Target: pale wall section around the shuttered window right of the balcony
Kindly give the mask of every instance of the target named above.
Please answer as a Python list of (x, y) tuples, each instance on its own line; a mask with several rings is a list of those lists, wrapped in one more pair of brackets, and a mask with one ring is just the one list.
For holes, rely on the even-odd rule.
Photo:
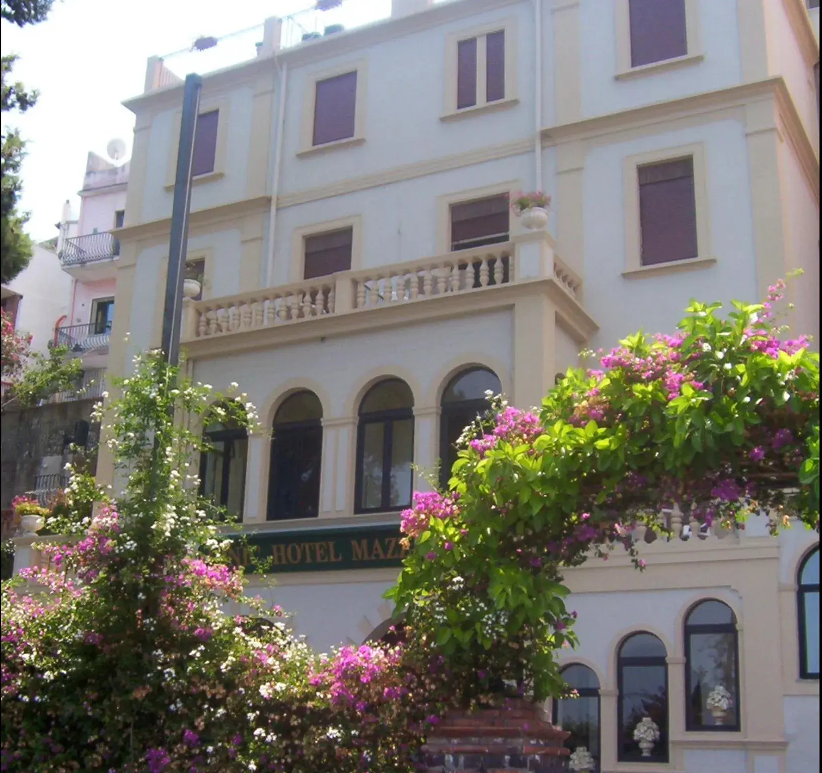
[[(710, 211), (708, 268), (625, 278), (623, 159), (703, 143)], [(720, 121), (592, 150), (584, 172), (584, 292), (600, 330), (591, 347), (611, 347), (642, 328), (672, 332), (691, 298), (757, 301), (745, 127)], [(701, 256), (700, 256), (701, 257)]]

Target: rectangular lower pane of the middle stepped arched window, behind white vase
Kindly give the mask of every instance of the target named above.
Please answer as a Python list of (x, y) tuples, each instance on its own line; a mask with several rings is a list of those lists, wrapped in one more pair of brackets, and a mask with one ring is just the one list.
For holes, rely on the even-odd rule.
[[(655, 638), (655, 637), (652, 637)], [(658, 641), (658, 640), (657, 640)], [(659, 728), (659, 740), (654, 743), (652, 759), (667, 757), (667, 690), (665, 665), (623, 665), (621, 688), (621, 757), (642, 757), (634, 730), (649, 716)], [(645, 757), (647, 759), (647, 757)]]

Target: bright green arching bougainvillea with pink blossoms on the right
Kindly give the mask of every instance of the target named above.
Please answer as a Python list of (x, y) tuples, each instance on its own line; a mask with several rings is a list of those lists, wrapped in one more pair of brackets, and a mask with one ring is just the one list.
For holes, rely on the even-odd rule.
[(774, 321), (783, 288), (724, 316), (693, 301), (676, 334), (626, 338), (539, 410), (497, 400), (464, 434), (450, 490), (415, 495), (389, 596), (463, 702), (561, 694), (563, 570), (615, 545), (642, 568), (633, 532), (670, 536), (665, 508), (713, 530), (756, 512), (774, 532), (791, 517), (819, 530), (819, 356)]

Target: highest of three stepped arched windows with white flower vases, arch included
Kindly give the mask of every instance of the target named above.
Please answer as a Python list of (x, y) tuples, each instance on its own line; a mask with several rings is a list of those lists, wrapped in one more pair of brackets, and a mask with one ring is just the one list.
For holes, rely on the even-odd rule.
[(738, 730), (737, 617), (722, 601), (700, 601), (685, 619), (686, 729)]

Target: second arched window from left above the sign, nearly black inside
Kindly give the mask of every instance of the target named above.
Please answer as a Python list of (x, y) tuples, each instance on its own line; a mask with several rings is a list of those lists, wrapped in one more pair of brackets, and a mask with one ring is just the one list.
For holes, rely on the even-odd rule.
[(295, 392), (274, 417), (268, 476), (269, 521), (320, 514), (322, 405), (307, 389)]

